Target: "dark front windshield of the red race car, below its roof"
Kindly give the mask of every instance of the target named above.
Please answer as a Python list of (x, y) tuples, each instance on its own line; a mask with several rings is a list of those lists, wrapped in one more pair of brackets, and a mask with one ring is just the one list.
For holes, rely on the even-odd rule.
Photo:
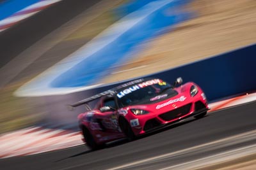
[(157, 103), (166, 97), (176, 96), (177, 92), (166, 82), (140, 87), (134, 85), (117, 94), (118, 105), (122, 108), (136, 104)]

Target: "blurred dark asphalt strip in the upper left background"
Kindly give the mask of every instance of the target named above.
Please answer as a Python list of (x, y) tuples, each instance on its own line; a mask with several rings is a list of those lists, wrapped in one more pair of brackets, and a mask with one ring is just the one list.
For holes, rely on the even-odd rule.
[[(45, 35), (86, 11), (100, 0), (65, 0), (0, 32), (0, 68)], [(74, 10), (75, 9), (75, 10)]]

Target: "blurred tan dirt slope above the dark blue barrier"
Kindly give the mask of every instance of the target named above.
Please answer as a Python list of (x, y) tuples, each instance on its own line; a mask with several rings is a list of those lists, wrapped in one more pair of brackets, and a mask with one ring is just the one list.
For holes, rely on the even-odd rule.
[(198, 17), (140, 46), (140, 53), (104, 83), (163, 71), (256, 42), (255, 0), (195, 0)]

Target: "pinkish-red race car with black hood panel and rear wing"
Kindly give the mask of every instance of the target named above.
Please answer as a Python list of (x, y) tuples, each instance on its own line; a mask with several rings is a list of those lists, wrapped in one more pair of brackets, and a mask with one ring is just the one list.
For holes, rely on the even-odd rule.
[[(88, 103), (97, 101), (92, 110)], [(92, 150), (120, 138), (133, 140), (187, 117), (202, 118), (209, 110), (204, 92), (182, 78), (170, 85), (159, 78), (140, 78), (89, 97), (78, 115), (84, 142)]]

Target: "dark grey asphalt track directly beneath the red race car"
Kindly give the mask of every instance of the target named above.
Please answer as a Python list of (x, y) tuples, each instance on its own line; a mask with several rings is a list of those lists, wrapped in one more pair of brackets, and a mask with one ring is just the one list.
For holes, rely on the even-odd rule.
[[(127, 142), (119, 141), (102, 150), (91, 152), (86, 146), (76, 146), (55, 152), (0, 160), (1, 169), (111, 169), (138, 160), (173, 153), (189, 147), (227, 138), (256, 127), (256, 102), (215, 111), (199, 120), (187, 120), (163, 131)], [(213, 153), (255, 144), (255, 140), (222, 148), (198, 149), (177, 157), (141, 162), (124, 169), (159, 169)], [(118, 168), (119, 169), (119, 168)]]

